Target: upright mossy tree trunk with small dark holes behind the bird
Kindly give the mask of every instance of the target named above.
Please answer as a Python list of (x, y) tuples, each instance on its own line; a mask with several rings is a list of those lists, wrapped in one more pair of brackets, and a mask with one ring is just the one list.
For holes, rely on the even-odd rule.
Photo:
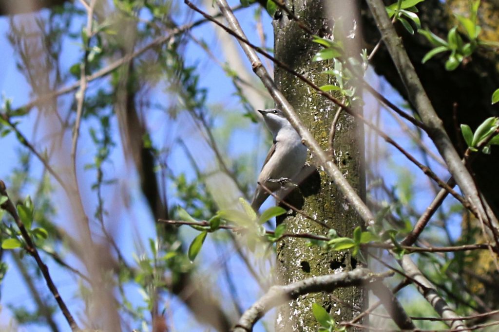
[[(286, 6), (307, 22), (315, 34), (324, 35), (331, 30), (324, 3), (325, 1), (318, 0), (293, 0), (286, 1)], [(274, 20), (273, 25), (275, 57), (318, 85), (330, 84), (328, 76), (321, 74), (326, 70), (327, 63), (311, 61), (320, 49), (318, 44), (311, 42), (311, 36), (300, 29), (295, 21), (290, 20), (285, 12)], [(338, 110), (337, 106), (283, 69), (277, 67), (274, 77), (278, 87), (314, 134), (315, 139), (327, 149), (329, 130)], [(345, 112), (341, 114), (336, 125), (334, 146), (335, 162), (361, 197), (365, 197), (362, 126)], [(313, 160), (309, 162), (313, 164)], [(293, 192), (285, 200), (316, 220), (326, 222), (341, 236), (351, 237), (353, 229), (363, 224), (323, 171), (319, 170), (310, 176), (300, 185), (300, 191), (301, 195)], [(328, 233), (327, 228), (299, 214), (288, 214), (285, 218), (278, 218), (277, 222), (283, 222), (286, 231), (290, 233)], [(276, 269), (282, 284), (351, 270), (357, 264), (357, 259), (352, 257), (349, 251), (335, 252), (318, 246), (308, 246), (305, 239), (285, 238), (277, 243)], [(316, 331), (317, 322), (311, 311), (313, 303), (322, 305), (336, 321), (350, 320), (356, 314), (352, 305), (357, 309), (363, 308), (366, 297), (367, 292), (362, 288), (344, 288), (332, 294), (316, 293), (300, 297), (279, 308), (276, 331)]]

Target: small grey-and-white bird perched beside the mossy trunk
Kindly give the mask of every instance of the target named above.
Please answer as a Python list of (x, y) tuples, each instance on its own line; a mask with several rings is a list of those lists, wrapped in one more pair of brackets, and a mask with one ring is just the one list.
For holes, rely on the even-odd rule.
[(272, 133), (273, 144), (263, 162), (258, 175), (258, 185), (251, 201), (251, 207), (255, 212), (258, 212), (270, 195), (261, 185), (275, 192), (282, 187), (283, 181), (296, 180), (305, 165), (308, 151), (301, 142), (300, 135), (282, 111), (278, 109), (257, 111), (263, 116), (266, 126)]

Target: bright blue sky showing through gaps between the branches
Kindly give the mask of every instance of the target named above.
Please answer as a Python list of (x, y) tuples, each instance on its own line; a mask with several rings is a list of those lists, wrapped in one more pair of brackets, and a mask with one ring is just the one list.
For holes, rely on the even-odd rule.
[[(75, 5), (80, 6), (77, 1)], [(241, 10), (238, 13), (238, 15), (239, 17), (241, 17), (243, 26), (245, 26), (246, 30), (249, 31), (250, 38), (252, 38), (253, 40), (257, 40), (254, 39), (255, 29), (254, 29), (254, 23), (252, 22), (253, 12), (254, 8), (247, 8)], [(37, 15), (46, 16), (47, 10), (42, 10)], [(20, 18), (22, 19), (23, 17), (29, 19), (29, 14), (21, 15)], [(198, 19), (198, 18), (199, 15), (196, 14), (193, 17), (193, 19)], [(267, 36), (271, 38), (272, 36), (271, 25), (268, 15), (264, 14), (263, 20)], [(187, 21), (182, 21), (182, 19), (180, 18), (178, 19), (179, 24), (183, 24), (186, 22)], [(77, 28), (79, 23), (81, 22), (73, 22), (72, 25), (75, 28)], [(5, 34), (8, 31), (8, 29), (9, 29), (8, 19), (6, 17), (0, 18), (0, 45), (2, 45), (2, 52), (0, 55), (1, 56), (0, 92), (2, 96), (4, 96), (5, 98), (9, 98), (12, 100), (12, 106), (15, 108), (30, 101), (30, 96), (28, 94), (28, 91), (31, 91), (31, 89), (29, 85), (26, 83), (25, 79), (22, 77), (22, 75), (19, 74), (16, 68), (15, 58), (13, 56), (13, 50), (11, 49), (10, 44), (6, 40)], [(192, 33), (197, 38), (205, 40), (212, 48), (214, 54), (216, 56), (220, 56), (220, 59), (223, 61), (223, 57), (220, 52), (219, 43), (217, 42), (216, 36), (213, 32), (213, 27), (210, 23), (206, 23), (201, 25), (200, 27), (194, 28), (192, 30)], [(271, 45), (271, 40), (269, 41), (268, 45)], [(80, 49), (77, 47), (77, 45), (74, 44), (74, 42), (70, 41), (64, 44), (61, 54), (61, 59), (63, 59), (62, 60), (63, 70), (67, 70), (73, 63), (78, 61), (78, 58), (81, 57), (81, 54), (79, 52)], [(214, 106), (223, 105), (223, 107), (226, 110), (239, 111), (238, 99), (232, 95), (234, 93), (234, 87), (232, 86), (231, 81), (226, 78), (224, 71), (218, 65), (214, 65), (214, 63), (211, 60), (207, 60), (203, 56), (204, 51), (202, 51), (201, 48), (197, 45), (191, 43), (187, 48), (185, 54), (186, 54), (186, 61), (189, 64), (196, 65), (197, 71), (199, 73), (202, 73), (200, 86), (208, 88), (208, 103)], [(101, 83), (92, 82), (90, 84), (88, 92), (89, 94), (92, 92), (92, 90), (97, 84)], [(167, 99), (169, 98), (169, 96), (164, 94), (163, 86), (161, 84), (158, 85), (151, 92), (150, 95), (151, 95), (151, 102), (153, 103), (157, 102), (165, 105), (168, 102)], [(70, 100), (71, 98), (73, 98), (73, 94), (68, 94), (67, 96), (63, 97), (63, 99), (66, 101)], [(36, 112), (33, 111), (30, 113), (28, 117), (23, 118), (22, 122), (19, 124), (19, 129), (23, 133), (25, 133), (28, 138), (34, 137), (36, 138), (35, 141), (38, 142), (37, 140), (40, 139), (39, 137), (40, 135), (36, 136), (32, 135), (36, 116), (37, 116)], [(185, 130), (186, 128), (189, 129), (188, 127), (189, 125), (192, 127), (192, 123), (189, 124), (189, 121), (187, 119), (180, 118), (176, 121), (176, 123), (172, 124), (171, 122), (165, 121), (165, 115), (162, 111), (151, 111), (148, 113), (148, 116), (150, 116), (150, 118), (148, 119), (150, 131), (153, 135), (153, 140), (155, 141), (157, 146), (159, 148), (162, 147), (173, 148), (172, 153), (169, 156), (169, 162), (171, 163), (172, 169), (177, 172), (180, 171), (185, 172), (187, 177), (192, 179), (195, 176), (195, 174), (192, 169), (190, 169), (189, 167), (185, 167), (185, 165), (188, 164), (188, 160), (186, 159), (184, 152), (181, 149), (176, 148), (174, 144), (175, 136), (182, 134), (182, 130)], [(235, 135), (240, 137), (247, 137), (248, 135), (247, 130), (249, 127), (250, 130), (253, 132), (254, 142), (256, 143), (260, 141), (261, 143), (261, 140), (258, 139), (256, 135), (254, 135), (255, 133), (260, 132), (259, 127), (257, 125), (251, 124), (247, 118), (243, 118), (243, 121), (246, 121), (248, 123), (243, 125), (242, 128), (243, 130), (238, 130), (238, 132), (235, 133)], [(90, 184), (92, 183), (95, 175), (92, 171), (82, 170), (82, 165), (91, 160), (94, 153), (92, 149), (91, 140), (88, 136), (88, 128), (91, 125), (92, 125), (91, 122), (90, 124), (83, 123), (80, 136), (81, 140), (79, 143), (79, 156), (78, 156), (78, 162), (80, 164), (79, 183), (83, 194), (82, 196), (84, 198), (94, 197), (94, 193), (91, 192), (90, 190)], [(127, 210), (122, 211), (121, 214), (114, 215), (112, 218), (113, 220), (110, 220), (109, 223), (110, 223), (110, 229), (112, 229), (114, 236), (116, 236), (123, 254), (127, 257), (127, 260), (130, 264), (134, 264), (134, 261), (132, 259), (132, 253), (133, 252), (137, 253), (138, 250), (135, 244), (142, 242), (145, 248), (147, 248), (148, 247), (147, 239), (151, 236), (154, 236), (154, 227), (153, 223), (151, 222), (152, 221), (151, 215), (146, 207), (144, 199), (137, 194), (138, 193), (137, 176), (135, 172), (130, 172), (130, 166), (125, 166), (119, 143), (120, 137), (117, 135), (118, 133), (117, 123), (114, 121), (112, 123), (112, 126), (115, 129), (114, 132), (116, 136), (114, 137), (114, 140), (117, 141), (118, 147), (115, 148), (112, 152), (111, 159), (113, 160), (113, 165), (108, 167), (108, 171), (112, 173), (116, 178), (118, 178), (119, 181), (126, 182), (127, 186), (131, 186), (133, 190), (131, 190), (130, 192), (135, 193), (134, 194), (135, 197), (132, 197), (130, 200), (130, 202), (132, 202), (132, 206), (130, 206)], [(174, 131), (173, 134), (172, 130)], [(69, 136), (67, 135), (66, 137), (69, 138)], [(16, 144), (15, 136), (12, 134), (9, 134), (6, 137), (2, 138), (1, 143), (4, 149), (2, 150), (2, 158), (0, 163), (0, 179), (7, 180), (10, 175), (12, 167), (14, 167), (15, 163), (17, 162), (16, 150), (19, 147), (18, 144)], [(201, 142), (197, 141), (196, 139), (193, 139), (192, 142), (189, 142), (188, 140), (188, 143), (193, 145), (201, 144)], [(43, 144), (40, 143), (39, 145)], [(242, 148), (241, 145), (237, 144), (236, 145), (232, 144), (230, 146), (230, 150), (234, 155), (248, 152), (251, 148), (252, 148), (251, 146), (247, 146), (245, 149)], [(262, 153), (261, 158), (263, 158), (264, 155), (265, 154)], [(34, 160), (32, 169), (33, 169), (33, 174), (40, 174), (42, 168), (40, 163)], [(174, 190), (174, 187), (171, 184), (168, 186), (168, 188), (169, 190)], [(32, 190), (32, 188), (28, 187), (25, 193), (21, 193), (21, 196), (29, 194), (30, 190)], [(107, 195), (111, 196), (112, 194), (115, 194), (115, 189), (113, 188), (104, 189), (104, 196)], [(57, 202), (59, 203), (64, 202), (63, 193), (61, 193), (60, 191), (56, 191), (55, 195), (57, 197), (56, 199)], [(173, 203), (175, 203), (174, 196), (172, 201)], [(87, 214), (89, 216), (92, 216), (95, 209), (95, 202), (92, 202), (91, 200), (90, 201), (86, 200), (86, 203), (88, 203), (86, 204)], [(75, 229), (71, 228), (71, 223), (64, 222), (64, 219), (71, 218), (70, 211), (66, 211), (66, 209), (64, 209), (64, 204), (60, 204), (60, 206), (58, 206), (57, 208), (58, 208), (58, 213), (55, 222), (61, 225), (70, 234), (71, 233), (75, 234), (74, 233)], [(189, 241), (190, 238), (194, 237), (197, 234), (196, 231), (190, 228), (182, 228), (181, 232), (185, 234), (186, 241)], [(146, 249), (146, 252), (147, 251), (149, 250)], [(237, 258), (234, 257), (234, 252), (233, 252), (234, 249), (231, 249), (229, 247), (226, 248), (225, 251), (228, 252), (227, 254), (227, 257), (229, 258), (228, 264), (230, 264), (230, 266), (234, 268), (234, 271), (239, 271), (235, 272), (235, 274), (237, 274), (235, 275), (235, 278), (237, 279), (245, 278), (246, 277), (245, 268), (242, 266), (242, 263)], [(203, 252), (207, 253), (216, 252), (213, 242), (208, 240), (203, 248)], [(61, 252), (61, 254), (64, 253)], [(210, 256), (210, 254), (208, 254), (207, 256)], [(8, 325), (11, 319), (11, 314), (7, 309), (9, 303), (25, 305), (28, 309), (33, 309), (33, 306), (31, 305), (32, 300), (31, 297), (29, 296), (29, 290), (25, 287), (24, 283), (21, 281), (22, 278), (18, 274), (18, 271), (14, 268), (11, 258), (9, 257), (8, 254), (4, 255), (4, 257), (7, 263), (9, 264), (10, 269), (1, 287), (1, 303), (4, 309), (1, 311), (0, 324)], [(70, 256), (67, 258), (69, 263), (75, 264), (75, 266), (80, 269), (82, 268), (82, 266), (78, 266), (79, 264), (74, 258), (71, 258)], [(29, 259), (30, 257), (24, 258), (24, 260), (29, 260)], [(73, 311), (73, 314), (76, 314), (78, 311), (81, 311), (83, 309), (82, 304), (80, 300), (78, 300), (75, 297), (77, 294), (77, 282), (78, 282), (77, 278), (66, 273), (64, 269), (59, 268), (56, 264), (51, 263), (50, 259), (45, 257), (45, 260), (48, 263), (51, 274), (54, 276), (55, 284), (59, 287), (63, 299), (65, 299), (66, 303)], [(209, 265), (210, 264), (208, 264), (208, 266)], [(203, 273), (208, 272), (206, 271), (206, 268), (203, 267), (200, 268), (200, 271), (202, 271)], [(221, 276), (220, 277), (217, 276), (218, 272), (216, 274), (213, 273), (210, 274), (212, 275), (213, 278), (216, 279), (220, 278), (221, 281), (218, 283), (220, 284), (221, 289), (227, 290), (227, 286), (224, 284), (225, 279), (223, 279)], [(254, 285), (253, 286), (251, 285), (250, 282), (247, 282), (246, 284), (247, 284), (246, 287), (239, 290), (239, 292), (240, 292), (240, 298), (248, 299), (243, 303), (243, 305), (248, 306), (250, 305), (249, 303), (250, 299), (254, 298), (254, 294), (257, 293), (257, 290), (254, 288)], [(42, 294), (47, 294), (44, 284), (37, 286)], [(136, 287), (128, 286), (126, 289), (127, 289), (127, 295), (129, 296), (129, 300), (131, 300), (136, 304), (142, 301), (142, 298), (138, 293)], [(226, 294), (226, 296), (228, 296), (228, 294)], [(188, 317), (188, 312), (181, 302), (179, 302), (175, 298), (167, 300), (169, 302), (171, 301), (170, 310), (174, 319), (174, 322), (172, 323), (177, 331), (187, 331), (187, 330), (204, 331), (204, 327), (197, 325), (196, 322), (193, 320), (186, 319)], [(67, 327), (66, 322), (63, 319), (62, 315), (59, 314), (59, 311), (57, 310), (56, 312), (57, 314), (55, 316), (55, 319), (59, 324), (61, 331), (65, 331)], [(29, 329), (29, 331), (48, 331), (47, 329), (44, 329), (38, 325), (31, 325), (26, 327), (26, 329)]]

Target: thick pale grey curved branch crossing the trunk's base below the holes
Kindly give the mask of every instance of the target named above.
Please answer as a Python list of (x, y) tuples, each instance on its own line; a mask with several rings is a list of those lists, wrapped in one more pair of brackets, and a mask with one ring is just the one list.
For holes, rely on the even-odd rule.
[(289, 285), (272, 286), (265, 295), (253, 303), (250, 309), (241, 316), (233, 331), (251, 331), (254, 324), (267, 311), (289, 300), (294, 300), (300, 295), (332, 292), (340, 287), (361, 286), (365, 283), (382, 280), (388, 276), (391, 276), (391, 273), (375, 274), (365, 268), (356, 268), (348, 272), (308, 278)]

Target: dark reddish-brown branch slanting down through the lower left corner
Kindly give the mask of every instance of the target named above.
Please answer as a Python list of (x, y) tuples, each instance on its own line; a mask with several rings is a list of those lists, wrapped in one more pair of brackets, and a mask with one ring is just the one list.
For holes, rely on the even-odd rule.
[(62, 315), (64, 315), (64, 318), (66, 319), (67, 323), (71, 327), (72, 331), (78, 331), (80, 328), (76, 324), (73, 316), (69, 312), (69, 309), (67, 308), (66, 304), (62, 300), (62, 297), (59, 294), (59, 291), (57, 290), (57, 287), (55, 286), (54, 282), (52, 281), (52, 277), (50, 276), (50, 273), (48, 272), (47, 266), (43, 263), (43, 261), (40, 258), (40, 255), (38, 254), (38, 250), (36, 249), (36, 246), (31, 239), (31, 236), (29, 235), (28, 231), (24, 227), (24, 224), (22, 221), (19, 219), (19, 216), (17, 215), (17, 211), (15, 210), (14, 205), (10, 201), (7, 195), (5, 183), (0, 180), (0, 197), (6, 197), (7, 201), (4, 202), (0, 208), (7, 211), (10, 216), (14, 219), (15, 223), (17, 224), (17, 227), (19, 227), (19, 230), (21, 232), (21, 236), (26, 242), (25, 249), (26, 251), (34, 258), (36, 261), (36, 264), (38, 265), (38, 268), (41, 271), (41, 274), (43, 275), (43, 278), (45, 279), (45, 282), (47, 283), (48, 289), (54, 296), (55, 301), (57, 301), (57, 304), (59, 305), (60, 310), (62, 311)]

